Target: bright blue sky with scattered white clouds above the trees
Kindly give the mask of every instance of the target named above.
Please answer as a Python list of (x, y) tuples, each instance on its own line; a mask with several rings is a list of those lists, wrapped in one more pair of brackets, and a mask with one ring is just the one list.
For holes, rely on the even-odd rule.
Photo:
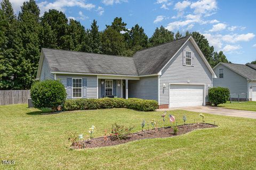
[[(16, 13), (23, 0), (10, 0)], [(100, 30), (113, 19), (122, 17), (127, 28), (143, 27), (150, 37), (156, 27), (185, 33), (202, 33), (214, 46), (223, 50), (229, 61), (245, 64), (256, 60), (256, 1), (172, 1), (172, 0), (37, 0), (41, 15), (50, 8), (79, 20), (90, 28), (93, 19)]]

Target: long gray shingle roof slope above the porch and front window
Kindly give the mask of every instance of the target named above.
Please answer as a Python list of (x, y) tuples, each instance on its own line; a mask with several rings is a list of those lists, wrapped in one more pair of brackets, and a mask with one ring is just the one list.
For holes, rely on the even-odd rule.
[(137, 75), (132, 57), (43, 48), (53, 72)]

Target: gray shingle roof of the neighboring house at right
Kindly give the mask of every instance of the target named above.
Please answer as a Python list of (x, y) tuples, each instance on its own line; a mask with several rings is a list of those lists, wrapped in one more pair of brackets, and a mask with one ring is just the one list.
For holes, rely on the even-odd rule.
[(256, 70), (244, 64), (221, 63), (250, 80), (256, 80)]

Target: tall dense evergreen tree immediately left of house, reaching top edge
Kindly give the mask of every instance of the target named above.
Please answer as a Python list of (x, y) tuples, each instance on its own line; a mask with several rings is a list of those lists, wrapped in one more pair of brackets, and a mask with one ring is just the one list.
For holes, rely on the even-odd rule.
[(29, 89), (36, 78), (40, 56), (39, 49), (39, 8), (34, 0), (24, 2), (19, 13), (21, 43), (23, 50), (20, 53), (17, 87)]

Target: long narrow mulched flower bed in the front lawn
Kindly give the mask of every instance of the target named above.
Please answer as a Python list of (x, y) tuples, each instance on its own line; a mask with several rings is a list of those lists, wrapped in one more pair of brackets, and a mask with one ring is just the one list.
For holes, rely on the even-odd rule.
[(178, 133), (173, 134), (173, 128), (165, 127), (165, 128), (158, 128), (158, 129), (149, 129), (145, 130), (144, 132), (137, 132), (129, 134), (129, 138), (125, 140), (113, 140), (111, 137), (108, 137), (107, 141), (104, 141), (104, 137), (94, 138), (92, 140), (84, 140), (78, 141), (71, 146), (73, 149), (83, 149), (83, 148), (99, 148), (99, 147), (107, 147), (107, 146), (114, 146), (120, 145), (122, 143), (127, 143), (134, 140), (142, 140), (142, 139), (154, 139), (154, 138), (167, 138), (167, 137), (174, 137), (177, 135), (181, 135), (184, 133), (188, 133), (190, 131), (196, 129), (204, 129), (204, 128), (215, 128), (216, 125), (207, 124), (207, 123), (196, 123), (196, 124), (186, 124), (186, 125), (179, 125)]

